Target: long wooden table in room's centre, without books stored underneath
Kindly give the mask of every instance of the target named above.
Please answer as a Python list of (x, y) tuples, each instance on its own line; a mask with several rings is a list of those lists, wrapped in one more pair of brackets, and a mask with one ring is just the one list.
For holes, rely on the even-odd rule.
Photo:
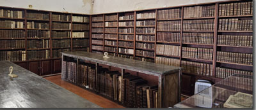
[[(62, 60), (65, 57), (72, 57), (77, 60), (86, 60), (95, 62), (96, 67), (99, 64), (109, 65), (111, 67), (118, 67), (122, 69), (122, 76), (125, 69), (129, 71), (141, 72), (158, 77), (158, 107), (170, 107), (177, 102), (180, 102), (180, 74), (181, 67), (174, 67), (170, 65), (155, 64), (152, 62), (143, 62), (140, 60), (132, 60), (129, 58), (120, 58), (109, 56), (104, 58), (99, 53), (90, 52), (63, 52)], [(96, 68), (97, 70), (97, 68)], [(63, 74), (63, 73), (62, 73)]]

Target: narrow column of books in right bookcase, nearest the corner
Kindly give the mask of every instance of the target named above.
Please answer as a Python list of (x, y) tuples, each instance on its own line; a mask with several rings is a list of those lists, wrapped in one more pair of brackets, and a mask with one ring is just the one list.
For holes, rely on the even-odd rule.
[(92, 52), (104, 52), (104, 15), (92, 15)]

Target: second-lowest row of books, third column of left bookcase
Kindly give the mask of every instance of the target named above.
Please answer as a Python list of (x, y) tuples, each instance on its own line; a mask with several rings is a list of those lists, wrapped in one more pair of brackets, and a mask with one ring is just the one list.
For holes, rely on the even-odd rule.
[(70, 39), (52, 39), (52, 48), (69, 48)]

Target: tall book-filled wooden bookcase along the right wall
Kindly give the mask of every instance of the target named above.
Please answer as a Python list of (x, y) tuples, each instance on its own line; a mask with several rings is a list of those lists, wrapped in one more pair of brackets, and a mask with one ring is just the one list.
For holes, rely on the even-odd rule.
[[(212, 81), (212, 83), (216, 83), (234, 73), (252, 74), (252, 10), (251, 1), (221, 1), (92, 15), (92, 18), (102, 17), (102, 20), (97, 22), (103, 24), (100, 27), (103, 29), (101, 32), (103, 36), (100, 39), (102, 40), (102, 45), (100, 46), (103, 46), (103, 48), (106, 47), (104, 43), (106, 41), (105, 29), (108, 28), (105, 26), (105, 23), (109, 22), (104, 17), (118, 15), (118, 20), (115, 20), (115, 22), (118, 22), (118, 33), (112, 33), (118, 35), (118, 49), (116, 52), (92, 48), (90, 52), (108, 52), (118, 57), (184, 67), (182, 93), (192, 95), (196, 79), (207, 79)], [(132, 13), (133, 18), (131, 19), (120, 18), (123, 15), (132, 15)], [(155, 16), (148, 17), (148, 13), (154, 13)], [(143, 17), (143, 14), (146, 14), (145, 17)], [(140, 17), (138, 18), (138, 16)], [(223, 24), (223, 21), (226, 22), (226, 19), (228, 19), (227, 23)], [(155, 21), (154, 25), (139, 24), (140, 22), (150, 20)], [(129, 24), (129, 21), (133, 21), (133, 25), (120, 26), (122, 22)], [(224, 25), (223, 27), (230, 27), (230, 29), (223, 27), (221, 29), (221, 25)], [(133, 33), (120, 32), (120, 29), (124, 28), (132, 28)], [(148, 28), (148, 30), (152, 28), (154, 32), (149, 34), (138, 32), (138, 29), (143, 28)], [(95, 34), (95, 32), (92, 32), (92, 34)], [(127, 39), (128, 37), (126, 37), (126, 39), (120, 39), (125, 34), (133, 35), (134, 38)], [(141, 41), (137, 39), (138, 36), (154, 36), (155, 39), (152, 41)], [(164, 37), (161, 38), (161, 36), (167, 36), (166, 38), (170, 39), (163, 39)], [(245, 39), (248, 40), (248, 43)], [(124, 43), (122, 41), (129, 41), (134, 44), (133, 46), (119, 46), (120, 43)], [(232, 42), (230, 43), (230, 41)], [(139, 48), (138, 43), (144, 43), (143, 45), (147, 46), (152, 44), (154, 46), (149, 46), (151, 48)], [(120, 52), (120, 48), (122, 50), (133, 50), (133, 52)], [(166, 50), (170, 52), (161, 52), (163, 48), (167, 48)], [(187, 52), (184, 52), (185, 50)], [(149, 54), (150, 52), (153, 53), (153, 56), (145, 54), (147, 52)], [(223, 56), (226, 56), (225, 58), (228, 60), (225, 60)], [(159, 58), (161, 61), (157, 60)]]

